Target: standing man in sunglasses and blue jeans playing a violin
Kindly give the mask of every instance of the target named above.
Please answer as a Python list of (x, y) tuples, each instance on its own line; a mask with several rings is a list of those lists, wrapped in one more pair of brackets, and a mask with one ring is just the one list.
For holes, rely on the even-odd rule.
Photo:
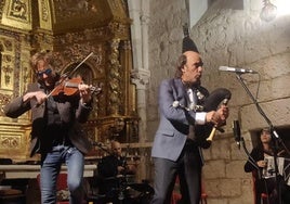
[(24, 95), (12, 100), (4, 113), (15, 118), (31, 110), (30, 156), (41, 155), (41, 203), (56, 203), (57, 175), (65, 163), (70, 203), (80, 204), (84, 154), (91, 148), (80, 123), (87, 122), (92, 110), (90, 86), (80, 84), (79, 94), (72, 97), (52, 97), (50, 92), (60, 80), (52, 53), (38, 52), (31, 56), (30, 63), (37, 82), (28, 85)]

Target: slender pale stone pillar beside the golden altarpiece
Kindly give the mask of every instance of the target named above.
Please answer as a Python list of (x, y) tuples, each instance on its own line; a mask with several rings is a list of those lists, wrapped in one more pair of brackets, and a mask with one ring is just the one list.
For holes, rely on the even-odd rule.
[[(147, 98), (146, 85), (150, 72), (148, 67), (148, 20), (149, 4), (146, 0), (129, 0), (129, 14), (133, 20), (131, 26), (133, 69), (131, 72), (132, 82), (136, 86), (139, 123), (139, 143), (147, 141)], [(148, 178), (145, 150), (141, 149), (141, 163), (136, 180)], [(145, 162), (144, 162), (145, 161)]]

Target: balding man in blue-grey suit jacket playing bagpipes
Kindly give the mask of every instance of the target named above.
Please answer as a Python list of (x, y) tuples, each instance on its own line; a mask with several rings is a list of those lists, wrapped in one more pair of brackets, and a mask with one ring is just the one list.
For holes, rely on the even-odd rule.
[(217, 111), (198, 111), (200, 95), (208, 95), (200, 86), (203, 63), (189, 37), (184, 38), (184, 43), (187, 47), (179, 59), (176, 77), (163, 80), (159, 89), (160, 124), (151, 150), (155, 165), (153, 204), (170, 203), (176, 176), (180, 178), (182, 203), (199, 204), (200, 146), (210, 146), (206, 141), (207, 125), (222, 126), (228, 116), (225, 105)]

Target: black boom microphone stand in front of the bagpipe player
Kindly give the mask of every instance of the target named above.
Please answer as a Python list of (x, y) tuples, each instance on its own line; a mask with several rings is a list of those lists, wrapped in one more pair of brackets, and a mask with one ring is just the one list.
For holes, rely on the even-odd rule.
[(275, 130), (272, 122), (269, 120), (269, 118), (266, 116), (266, 114), (264, 113), (264, 111), (262, 110), (262, 107), (260, 106), (260, 104), (258, 103), (258, 101), (254, 99), (253, 94), (251, 93), (251, 91), (248, 89), (248, 87), (246, 86), (243, 79), (241, 78), (241, 73), (236, 73), (236, 77), (239, 80), (239, 82), (241, 84), (242, 88), (246, 90), (246, 92), (248, 93), (248, 95), (251, 98), (251, 100), (253, 101), (254, 105), (256, 106), (258, 112), (264, 117), (264, 119), (266, 120), (266, 123), (269, 126), (271, 129), (271, 137), (272, 139), (275, 139), (274, 143), (274, 166), (275, 166), (275, 181), (276, 181), (276, 190), (277, 190), (277, 194), (278, 194), (278, 204), (281, 204), (281, 192), (280, 192), (280, 187), (279, 187), (279, 181), (278, 181), (278, 164), (277, 164), (277, 151), (278, 151), (278, 143), (282, 143), (285, 150), (287, 151), (287, 153), (289, 153), (289, 150), (286, 148), (286, 145), (284, 144), (282, 140), (280, 139), (280, 137), (278, 136), (277, 131)]

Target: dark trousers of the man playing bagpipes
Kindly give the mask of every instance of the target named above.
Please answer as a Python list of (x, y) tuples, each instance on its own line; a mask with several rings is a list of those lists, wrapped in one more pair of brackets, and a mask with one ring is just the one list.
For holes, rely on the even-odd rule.
[(181, 203), (199, 204), (201, 193), (201, 160), (198, 148), (185, 146), (176, 162), (154, 158), (155, 194), (151, 204), (170, 203), (175, 178), (180, 177)]

